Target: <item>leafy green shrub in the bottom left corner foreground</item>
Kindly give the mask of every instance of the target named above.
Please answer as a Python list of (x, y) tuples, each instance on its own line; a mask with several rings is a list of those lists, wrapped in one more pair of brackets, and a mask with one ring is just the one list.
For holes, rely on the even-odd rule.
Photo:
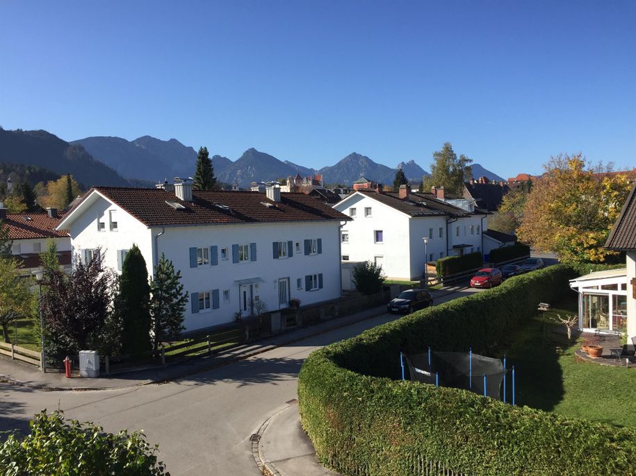
[(46, 410), (30, 423), (31, 434), (10, 435), (0, 445), (3, 475), (170, 475), (157, 461), (158, 447), (140, 432), (104, 433), (92, 423), (65, 421)]

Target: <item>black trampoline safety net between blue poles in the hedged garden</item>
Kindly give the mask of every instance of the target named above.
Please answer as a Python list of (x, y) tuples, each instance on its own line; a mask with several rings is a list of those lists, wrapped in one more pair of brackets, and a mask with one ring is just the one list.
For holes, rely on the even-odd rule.
[[(430, 352), (404, 355), (411, 380), (425, 384), (450, 386), (484, 395), (484, 374), (486, 375), (486, 395), (500, 398), (501, 382), (505, 373), (500, 359), (484, 357), (471, 352)], [(436, 375), (437, 373), (437, 375)]]

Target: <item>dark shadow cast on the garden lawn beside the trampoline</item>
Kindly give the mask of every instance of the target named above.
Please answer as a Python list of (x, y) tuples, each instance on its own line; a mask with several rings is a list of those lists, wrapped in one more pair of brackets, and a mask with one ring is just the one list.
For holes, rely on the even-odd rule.
[(576, 346), (576, 334), (568, 341), (565, 326), (556, 323), (556, 315), (565, 317), (572, 312), (569, 300), (559, 303), (544, 316), (528, 321), (502, 346), (507, 367), (514, 366), (517, 405), (553, 411), (563, 400), (565, 389), (559, 359), (566, 350)]

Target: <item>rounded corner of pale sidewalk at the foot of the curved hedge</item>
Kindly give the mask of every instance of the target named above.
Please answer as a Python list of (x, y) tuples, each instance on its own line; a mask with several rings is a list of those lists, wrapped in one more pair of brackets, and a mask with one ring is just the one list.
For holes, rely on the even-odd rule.
[[(252, 442), (256, 465), (263, 474), (275, 476), (339, 476), (325, 468), (316, 458), (316, 451), (300, 426), (296, 402), (272, 415)], [(258, 448), (254, 448), (254, 446)]]

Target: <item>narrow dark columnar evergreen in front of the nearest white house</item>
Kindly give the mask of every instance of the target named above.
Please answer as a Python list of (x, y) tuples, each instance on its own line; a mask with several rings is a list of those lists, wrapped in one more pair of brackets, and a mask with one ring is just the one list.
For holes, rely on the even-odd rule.
[(122, 353), (139, 355), (152, 348), (150, 341), (150, 284), (146, 261), (133, 244), (120, 276), (115, 309), (122, 321)]

